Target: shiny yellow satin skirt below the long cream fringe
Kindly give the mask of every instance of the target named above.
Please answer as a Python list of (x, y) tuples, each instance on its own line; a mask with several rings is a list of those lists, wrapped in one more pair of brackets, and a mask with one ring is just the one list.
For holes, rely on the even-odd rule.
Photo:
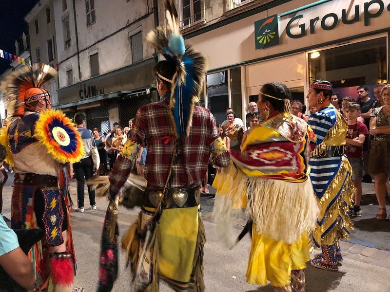
[(249, 256), (247, 282), (265, 286), (267, 280), (274, 287), (289, 285), (291, 271), (306, 268), (310, 260), (309, 240), (307, 233), (292, 244), (265, 237), (252, 231), (252, 248)]

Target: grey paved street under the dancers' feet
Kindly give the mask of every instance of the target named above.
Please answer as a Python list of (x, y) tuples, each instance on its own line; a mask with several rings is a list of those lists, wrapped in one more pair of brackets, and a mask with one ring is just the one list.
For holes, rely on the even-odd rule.
[[(4, 187), (3, 215), (10, 216), (11, 182), (13, 175)], [(307, 292), (390, 292), (390, 222), (379, 222), (374, 218), (378, 206), (372, 197), (373, 184), (365, 184), (363, 199), (363, 216), (354, 219), (355, 232), (350, 242), (342, 242), (341, 247), (345, 259), (338, 273), (322, 271), (309, 266), (306, 270)], [(75, 181), (71, 182), (72, 199), (76, 202)], [(102, 222), (107, 201), (97, 199), (98, 209), (88, 208), (86, 195), (86, 211), (72, 213), (72, 230), (75, 240), (78, 271), (75, 285), (82, 286), (86, 292), (96, 291), (98, 275), (99, 242)], [(213, 196), (208, 194), (202, 198), (203, 219), (205, 221), (207, 243), (205, 245), (205, 281), (206, 291), (210, 292), (271, 292), (271, 287), (259, 287), (245, 282), (250, 238), (243, 240), (233, 249), (226, 249), (217, 237), (215, 224), (212, 223)], [(137, 215), (138, 210), (127, 210), (123, 207), (119, 212), (120, 234)], [(245, 225), (244, 219), (236, 219), (237, 235)], [(129, 269), (124, 268), (124, 255), (119, 258), (119, 277), (113, 291), (133, 291), (130, 284)], [(171, 291), (164, 284), (160, 291)]]

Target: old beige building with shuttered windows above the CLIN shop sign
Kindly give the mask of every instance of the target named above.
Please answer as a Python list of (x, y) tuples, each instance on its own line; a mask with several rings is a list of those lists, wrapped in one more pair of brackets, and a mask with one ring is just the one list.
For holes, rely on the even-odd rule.
[(69, 116), (85, 111), (88, 127), (106, 132), (114, 122), (127, 126), (140, 106), (156, 100), (155, 51), (145, 38), (158, 23), (159, 9), (153, 0), (54, 1), (56, 108)]

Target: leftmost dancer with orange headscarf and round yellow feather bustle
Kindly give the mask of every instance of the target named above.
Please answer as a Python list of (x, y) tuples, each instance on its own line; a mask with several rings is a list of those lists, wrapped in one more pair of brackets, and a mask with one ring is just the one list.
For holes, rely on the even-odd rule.
[[(1, 84), (8, 119), (0, 144), (15, 170), (12, 228), (41, 228), (44, 238), (29, 252), (39, 288), (71, 291), (75, 254), (67, 208), (68, 163), (83, 155), (77, 129), (60, 110), (51, 110), (43, 84), (57, 75), (48, 65), (24, 66)], [(39, 290), (39, 291), (41, 291)]]

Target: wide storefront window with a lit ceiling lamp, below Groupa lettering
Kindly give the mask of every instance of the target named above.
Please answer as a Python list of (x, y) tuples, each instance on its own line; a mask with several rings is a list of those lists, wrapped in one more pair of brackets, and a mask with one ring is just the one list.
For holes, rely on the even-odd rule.
[(387, 39), (371, 39), (309, 54), (309, 81), (328, 80), (341, 97), (357, 98), (366, 85), (372, 95), (376, 83), (387, 83)]

